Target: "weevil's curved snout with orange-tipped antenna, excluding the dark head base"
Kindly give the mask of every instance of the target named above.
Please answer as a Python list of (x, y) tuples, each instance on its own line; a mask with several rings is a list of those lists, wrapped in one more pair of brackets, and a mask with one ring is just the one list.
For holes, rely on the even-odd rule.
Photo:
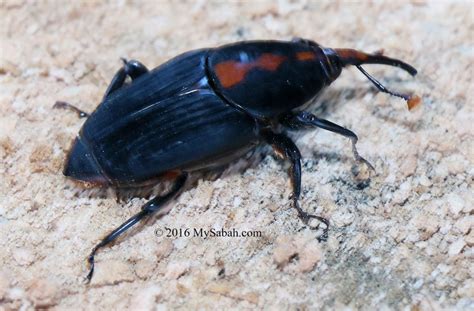
[(390, 91), (382, 83), (377, 81), (377, 79), (375, 79), (367, 71), (365, 71), (361, 65), (362, 64), (382, 64), (382, 65), (395, 66), (407, 71), (409, 74), (414, 76), (416, 75), (417, 71), (413, 66), (407, 63), (404, 63), (401, 60), (383, 56), (381, 52), (378, 52), (375, 54), (367, 54), (367, 53), (353, 50), (353, 49), (334, 49), (334, 51), (339, 56), (339, 60), (341, 61), (343, 66), (355, 65), (357, 69), (359, 69), (360, 72), (362, 72), (367, 77), (367, 79), (369, 79), (370, 82), (372, 82), (375, 85), (375, 87), (379, 91), (393, 95), (393, 96), (397, 96), (406, 100), (408, 104), (408, 109), (412, 109), (413, 107), (415, 107), (421, 102), (421, 98), (416, 95), (410, 96), (408, 94), (402, 94), (402, 93)]

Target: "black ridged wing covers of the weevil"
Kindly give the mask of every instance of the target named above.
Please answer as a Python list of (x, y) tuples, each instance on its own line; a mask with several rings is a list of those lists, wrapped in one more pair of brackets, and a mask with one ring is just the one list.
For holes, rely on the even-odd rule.
[(255, 120), (215, 94), (207, 51), (178, 56), (113, 93), (81, 130), (103, 174), (140, 184), (173, 170), (194, 170), (248, 148)]

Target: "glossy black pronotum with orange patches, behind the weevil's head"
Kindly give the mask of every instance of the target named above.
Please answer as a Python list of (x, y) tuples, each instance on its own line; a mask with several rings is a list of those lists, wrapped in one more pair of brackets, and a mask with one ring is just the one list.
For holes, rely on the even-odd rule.
[(319, 47), (280, 41), (243, 42), (209, 55), (211, 79), (226, 100), (256, 117), (301, 106), (327, 84)]

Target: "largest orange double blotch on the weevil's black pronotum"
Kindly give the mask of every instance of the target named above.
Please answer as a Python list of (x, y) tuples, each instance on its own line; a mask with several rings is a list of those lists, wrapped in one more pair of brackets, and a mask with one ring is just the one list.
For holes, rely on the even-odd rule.
[(285, 61), (286, 57), (264, 53), (253, 62), (225, 61), (214, 66), (217, 79), (225, 88), (239, 84), (245, 75), (253, 68), (275, 71)]

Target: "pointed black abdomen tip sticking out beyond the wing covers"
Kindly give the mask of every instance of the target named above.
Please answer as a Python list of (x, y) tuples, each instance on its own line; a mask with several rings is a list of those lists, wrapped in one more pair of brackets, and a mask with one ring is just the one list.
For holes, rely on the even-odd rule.
[(79, 181), (99, 184), (107, 183), (89, 148), (80, 137), (77, 137), (72, 144), (63, 174)]

